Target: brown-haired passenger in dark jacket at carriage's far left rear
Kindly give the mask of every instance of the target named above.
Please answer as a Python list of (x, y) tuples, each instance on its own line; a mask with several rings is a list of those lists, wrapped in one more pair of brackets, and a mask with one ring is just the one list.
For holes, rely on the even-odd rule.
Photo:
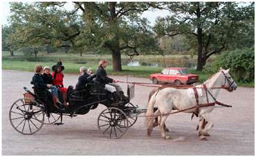
[[(42, 72), (43, 72), (43, 66), (36, 65), (35, 66), (35, 75), (32, 78), (32, 83), (34, 84), (35, 89), (38, 90), (38, 91), (44, 91), (44, 90), (48, 90), (48, 89), (53, 89), (54, 90), (54, 86), (52, 84), (49, 84), (49, 83), (46, 84), (44, 82), (44, 77), (42, 75)], [(57, 100), (56, 100), (57, 98), (56, 98), (56, 95), (55, 95), (54, 92), (51, 92), (51, 97), (53, 99), (53, 105), (55, 107), (57, 107)], [(48, 104), (48, 105), (50, 105), (50, 104)], [(59, 109), (59, 107), (57, 107), (57, 109)]]

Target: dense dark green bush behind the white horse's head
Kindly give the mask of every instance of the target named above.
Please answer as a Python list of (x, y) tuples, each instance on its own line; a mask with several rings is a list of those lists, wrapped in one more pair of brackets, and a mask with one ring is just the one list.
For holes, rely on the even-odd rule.
[(223, 52), (212, 64), (212, 69), (230, 68), (230, 74), (237, 82), (254, 82), (254, 48)]

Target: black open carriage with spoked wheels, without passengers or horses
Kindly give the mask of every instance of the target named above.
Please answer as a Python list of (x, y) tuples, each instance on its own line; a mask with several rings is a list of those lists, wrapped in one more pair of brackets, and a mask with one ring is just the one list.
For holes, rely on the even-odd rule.
[(107, 107), (98, 116), (98, 129), (109, 138), (122, 137), (137, 120), (138, 107), (129, 102), (134, 97), (134, 85), (131, 84), (127, 85), (129, 100), (115, 102), (109, 91), (97, 82), (91, 82), (85, 89), (71, 91), (68, 94), (68, 108), (62, 110), (53, 106), (48, 90), (40, 91), (35, 86), (33, 89), (34, 93), (24, 86), (27, 93), (12, 104), (9, 113), (12, 127), (25, 135), (36, 133), (44, 124), (63, 124), (62, 116), (84, 115), (96, 109), (98, 104)]

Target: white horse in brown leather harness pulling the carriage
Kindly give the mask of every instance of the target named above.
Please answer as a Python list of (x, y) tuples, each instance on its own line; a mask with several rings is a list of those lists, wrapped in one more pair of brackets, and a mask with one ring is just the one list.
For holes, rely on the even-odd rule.
[[(229, 69), (224, 70), (220, 68), (220, 71), (218, 73), (215, 73), (214, 75), (212, 75), (212, 77), (210, 77), (203, 83), (208, 89), (208, 96), (206, 95), (205, 90), (202, 89), (202, 95), (199, 96), (199, 104), (215, 102), (214, 98), (217, 98), (217, 95), (219, 94), (221, 87), (229, 92), (232, 92), (233, 90), (237, 89), (237, 84), (234, 82), (234, 80), (232, 80), (232, 77), (228, 74), (228, 71)], [(203, 84), (198, 85), (196, 87), (203, 88)], [(152, 116), (154, 113), (154, 104), (158, 104), (158, 110), (154, 113), (154, 115), (163, 114), (163, 116), (159, 116), (160, 118), (158, 119), (158, 124), (161, 129), (161, 135), (165, 139), (170, 138), (170, 136), (166, 136), (165, 129), (163, 127), (165, 124), (165, 120), (169, 116), (168, 113), (170, 113), (172, 109), (177, 109), (181, 111), (196, 106), (196, 98), (188, 97), (188, 90), (191, 89), (165, 88), (152, 95), (152, 98), (149, 100), (149, 104), (147, 107), (145, 120), (148, 135), (152, 133), (153, 122), (155, 118), (154, 116)], [(213, 122), (210, 119), (210, 112), (213, 109), (214, 106), (199, 108), (199, 136), (201, 139), (206, 140), (205, 136), (208, 135), (208, 131), (213, 127)], [(194, 113), (195, 111), (196, 108), (184, 112)], [(207, 121), (207, 124), (205, 126), (203, 124), (203, 119)]]

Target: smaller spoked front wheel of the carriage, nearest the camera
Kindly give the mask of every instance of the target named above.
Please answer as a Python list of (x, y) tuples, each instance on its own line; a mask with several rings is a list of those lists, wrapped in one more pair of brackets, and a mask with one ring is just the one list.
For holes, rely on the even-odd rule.
[(128, 120), (124, 111), (116, 107), (104, 109), (98, 117), (98, 128), (104, 136), (121, 138), (128, 129)]

